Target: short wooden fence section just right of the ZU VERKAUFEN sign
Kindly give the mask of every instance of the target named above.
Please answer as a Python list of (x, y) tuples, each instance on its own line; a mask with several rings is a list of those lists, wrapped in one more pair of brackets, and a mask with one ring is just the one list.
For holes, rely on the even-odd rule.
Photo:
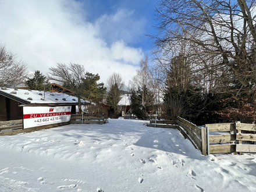
[(105, 118), (103, 114), (73, 114), (70, 119), (71, 124), (104, 124)]

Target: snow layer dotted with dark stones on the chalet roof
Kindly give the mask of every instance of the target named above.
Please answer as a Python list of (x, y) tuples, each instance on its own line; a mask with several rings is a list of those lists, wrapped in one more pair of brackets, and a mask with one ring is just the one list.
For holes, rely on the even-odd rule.
[[(70, 103), (77, 103), (77, 97), (73, 97), (71, 95), (67, 95), (64, 93), (57, 93), (57, 92), (49, 92), (45, 91), (45, 100), (42, 100), (41, 98), (44, 98), (44, 91), (37, 91), (37, 90), (23, 90), (23, 89), (14, 89), (14, 88), (7, 88), (6, 90), (3, 90), (0, 88), (0, 94), (1, 91), (12, 94), (15, 97), (30, 101), (31, 104), (70, 104)], [(16, 94), (13, 94), (15, 92)], [(41, 94), (41, 95), (40, 95)], [(32, 98), (33, 100), (28, 100), (27, 98)], [(66, 100), (63, 101), (63, 98)], [(58, 99), (58, 100), (56, 100)], [(89, 101), (81, 99), (81, 102), (90, 103)]]

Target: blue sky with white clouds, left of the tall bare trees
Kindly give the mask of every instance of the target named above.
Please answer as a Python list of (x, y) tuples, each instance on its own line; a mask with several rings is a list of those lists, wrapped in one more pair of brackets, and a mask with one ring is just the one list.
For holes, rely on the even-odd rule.
[(120, 73), (128, 84), (150, 54), (157, 0), (0, 1), (0, 42), (46, 74), (56, 63), (79, 63), (101, 81)]

